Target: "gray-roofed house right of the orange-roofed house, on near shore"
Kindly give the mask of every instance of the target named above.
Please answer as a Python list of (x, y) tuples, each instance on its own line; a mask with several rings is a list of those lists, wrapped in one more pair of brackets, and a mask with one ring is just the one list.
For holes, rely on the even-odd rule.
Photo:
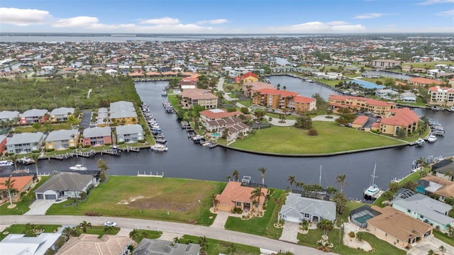
[(301, 194), (289, 193), (285, 205), (277, 220), (302, 222), (303, 220), (320, 222), (322, 219), (336, 220), (336, 203), (314, 198), (305, 198)]

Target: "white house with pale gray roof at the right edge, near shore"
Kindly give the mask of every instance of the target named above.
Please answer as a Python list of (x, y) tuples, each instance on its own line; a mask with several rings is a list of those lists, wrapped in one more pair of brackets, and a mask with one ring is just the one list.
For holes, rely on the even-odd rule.
[(448, 216), (451, 205), (419, 193), (409, 198), (395, 198), (392, 207), (441, 230), (454, 225), (454, 218)]

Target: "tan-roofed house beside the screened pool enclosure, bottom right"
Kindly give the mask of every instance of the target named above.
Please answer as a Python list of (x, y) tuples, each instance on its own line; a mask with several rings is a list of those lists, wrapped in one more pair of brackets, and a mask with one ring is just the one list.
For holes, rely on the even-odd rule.
[(367, 220), (366, 229), (389, 244), (404, 248), (432, 234), (431, 225), (416, 220), (391, 206), (379, 208), (372, 205), (372, 209), (381, 214)]

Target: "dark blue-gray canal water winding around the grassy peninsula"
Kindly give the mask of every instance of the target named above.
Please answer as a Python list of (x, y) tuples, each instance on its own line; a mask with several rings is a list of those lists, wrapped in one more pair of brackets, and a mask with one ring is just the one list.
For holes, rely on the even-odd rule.
[[(321, 93), (327, 97), (328, 91), (321, 91), (316, 84), (306, 84), (300, 79), (292, 77), (271, 77), (273, 84), (278, 82), (287, 86), (288, 90), (297, 91), (304, 96)], [(298, 83), (300, 82), (300, 83)], [(108, 162), (108, 174), (136, 175), (138, 172), (153, 174), (164, 172), (168, 177), (182, 177), (189, 179), (203, 179), (212, 181), (226, 181), (234, 169), (240, 176), (252, 176), (253, 181), (261, 182), (258, 168), (265, 167), (265, 184), (272, 188), (287, 188), (288, 176), (295, 176), (297, 181), (319, 183), (320, 169), (322, 171), (321, 185), (336, 186), (334, 180), (339, 174), (347, 176), (348, 186), (344, 191), (349, 198), (361, 198), (364, 188), (370, 185), (374, 165), (377, 164), (375, 183), (386, 188), (387, 183), (394, 178), (402, 178), (411, 172), (411, 164), (419, 157), (447, 157), (454, 154), (454, 113), (434, 112), (416, 108), (419, 115), (427, 115), (438, 120), (446, 130), (444, 137), (438, 137), (433, 144), (426, 143), (425, 147), (401, 147), (398, 149), (381, 149), (370, 152), (343, 154), (333, 157), (272, 157), (260, 154), (237, 152), (233, 149), (216, 147), (208, 149), (194, 145), (188, 140), (186, 132), (182, 130), (176, 116), (165, 113), (162, 108), (161, 89), (167, 81), (138, 82), (135, 87), (143, 102), (151, 107), (153, 116), (161, 126), (168, 141), (168, 152), (150, 152), (143, 149), (140, 152), (123, 153), (120, 157), (102, 156)], [(312, 90), (306, 88), (310, 86)], [(326, 88), (323, 88), (326, 89)], [(284, 141), (283, 141), (284, 142)], [(97, 156), (98, 159), (101, 156)], [(96, 159), (74, 158), (63, 161), (40, 160), (40, 173), (52, 173), (68, 169), (74, 164), (84, 164), (89, 169), (96, 169)], [(29, 166), (35, 171), (34, 165)], [(0, 173), (11, 171), (11, 168), (2, 168)]]

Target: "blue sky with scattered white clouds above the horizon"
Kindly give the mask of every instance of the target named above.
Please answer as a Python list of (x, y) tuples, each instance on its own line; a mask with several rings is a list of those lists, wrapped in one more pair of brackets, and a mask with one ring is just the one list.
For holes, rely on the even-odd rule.
[(454, 33), (454, 0), (1, 0), (1, 33)]

